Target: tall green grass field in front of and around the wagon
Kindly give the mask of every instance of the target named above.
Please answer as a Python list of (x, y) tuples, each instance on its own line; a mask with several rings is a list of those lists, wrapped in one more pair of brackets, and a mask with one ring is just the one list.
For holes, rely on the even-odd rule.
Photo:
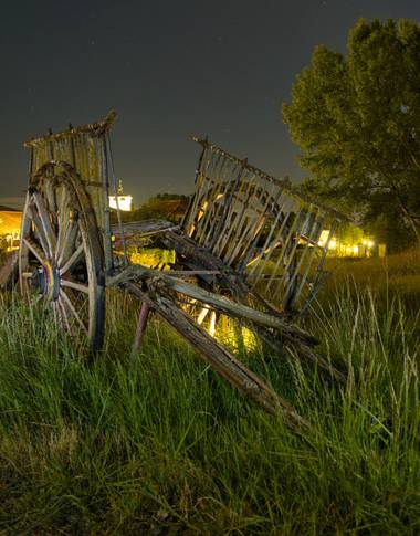
[(111, 298), (105, 349), (86, 365), (43, 311), (4, 296), (0, 534), (418, 534), (416, 255), (335, 263), (305, 325), (348, 371), (343, 389), (292, 356), (243, 356), (305, 433), (157, 320), (130, 358), (128, 298)]

